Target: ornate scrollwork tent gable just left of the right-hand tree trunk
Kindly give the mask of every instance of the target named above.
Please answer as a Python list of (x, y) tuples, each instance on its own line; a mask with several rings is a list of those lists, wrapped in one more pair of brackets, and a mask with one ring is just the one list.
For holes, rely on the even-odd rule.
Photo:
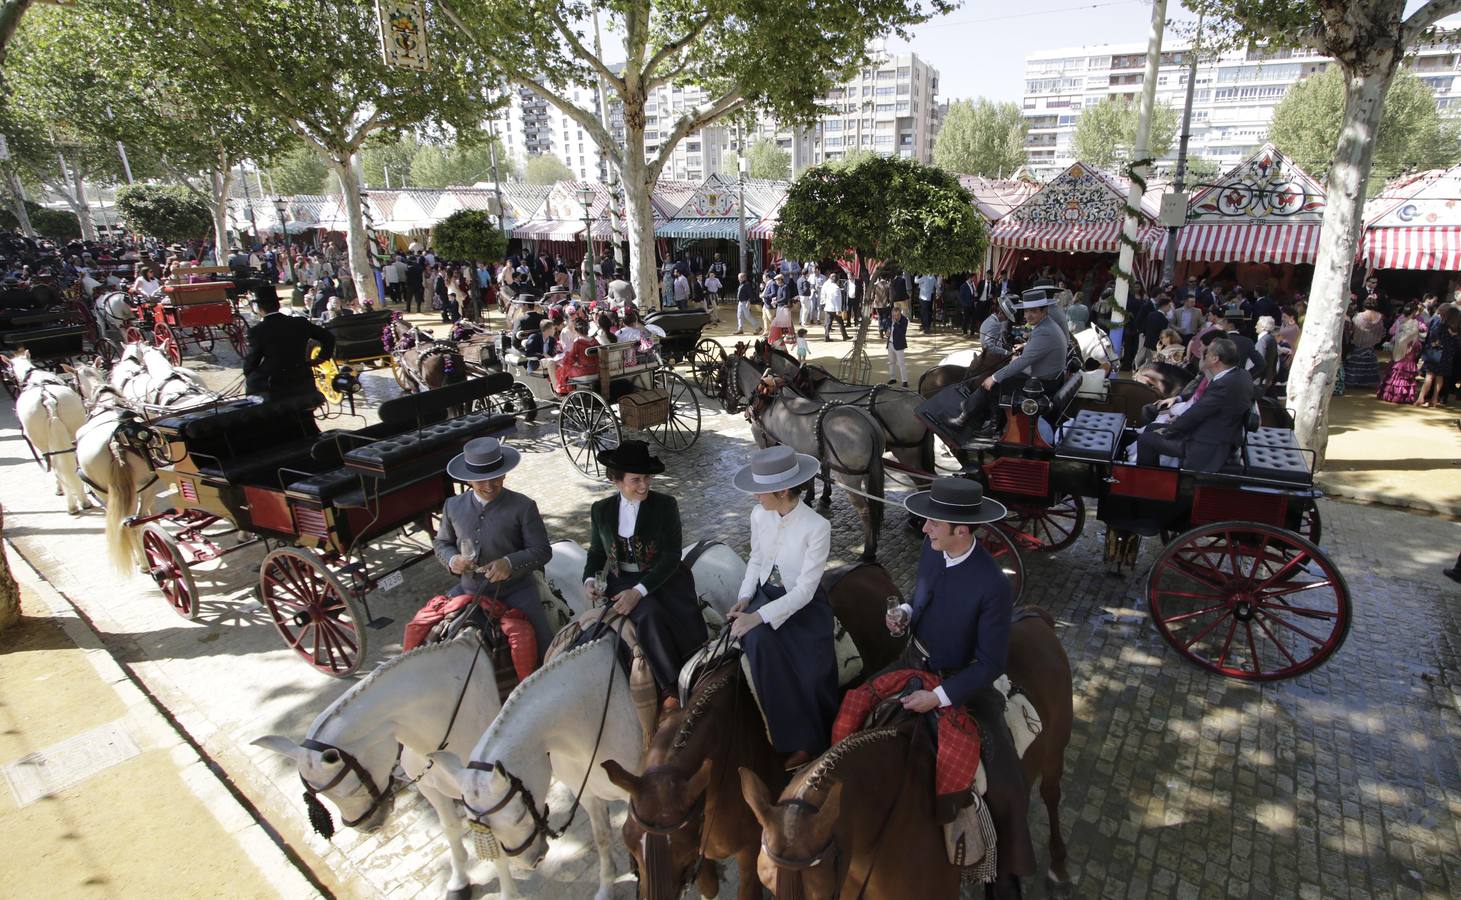
[(1324, 188), (1268, 143), (1188, 203), (1189, 222), (1324, 221)]

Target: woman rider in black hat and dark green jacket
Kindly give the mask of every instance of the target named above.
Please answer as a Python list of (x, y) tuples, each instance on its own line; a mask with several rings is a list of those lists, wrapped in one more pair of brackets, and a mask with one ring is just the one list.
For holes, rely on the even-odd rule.
[[(665, 463), (650, 456), (644, 441), (622, 441), (598, 459), (618, 492), (589, 511), (593, 535), (584, 592), (590, 600), (612, 602), (615, 612), (634, 622), (655, 684), (674, 706), (679, 669), (707, 637), (695, 579), (679, 560), (679, 504), (650, 489)], [(600, 573), (603, 587), (596, 584)]]

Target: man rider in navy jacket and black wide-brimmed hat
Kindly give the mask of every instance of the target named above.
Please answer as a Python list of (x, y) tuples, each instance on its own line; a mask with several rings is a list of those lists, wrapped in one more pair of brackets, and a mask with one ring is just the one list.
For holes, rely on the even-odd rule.
[(913, 691), (903, 707), (929, 713), (963, 706), (979, 722), (985, 801), (999, 837), (999, 874), (1034, 871), (1034, 847), (1026, 821), (1027, 790), (1020, 755), (1004, 722), (1004, 695), (993, 687), (1010, 655), (1012, 593), (993, 557), (979, 545), (974, 529), (998, 522), (1005, 507), (985, 497), (977, 481), (939, 478), (932, 488), (907, 498), (923, 516), (928, 541), (918, 564), (912, 603), (888, 612), (888, 630), (904, 628), (912, 640), (894, 668), (932, 672), (942, 679), (932, 691)]

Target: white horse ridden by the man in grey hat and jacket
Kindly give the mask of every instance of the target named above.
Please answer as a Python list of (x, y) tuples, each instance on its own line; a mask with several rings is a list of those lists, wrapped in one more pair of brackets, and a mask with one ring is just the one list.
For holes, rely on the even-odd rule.
[[(281, 735), (259, 738), (254, 745), (294, 760), (305, 788), (329, 798), (345, 824), (362, 831), (374, 831), (386, 820), (399, 748), (400, 767), (437, 811), (451, 847), (447, 897), (466, 900), (472, 882), (454, 802), (462, 793), (456, 779), (430, 764), (427, 755), (441, 748), (466, 751), (500, 709), (492, 659), (475, 636), (463, 634), (383, 662), (314, 719), (302, 747)], [(313, 809), (311, 824), (320, 815)], [(326, 831), (333, 833), (333, 823)], [(503, 855), (497, 858), (497, 880), (504, 897), (516, 896)]]

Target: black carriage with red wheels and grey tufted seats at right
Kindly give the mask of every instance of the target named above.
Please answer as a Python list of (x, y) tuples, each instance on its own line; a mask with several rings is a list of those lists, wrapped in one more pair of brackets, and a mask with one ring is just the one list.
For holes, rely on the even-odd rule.
[(1311, 671), (1344, 643), (1350, 595), (1319, 549), (1313, 454), (1292, 428), (1255, 408), (1243, 443), (1220, 472), (1126, 460), (1132, 424), (1119, 409), (1078, 409), (1080, 375), (1053, 396), (1002, 397), (998, 440), (970, 444), (948, 421), (966, 396), (950, 386), (919, 413), (1010, 507), (999, 523), (1021, 551), (1069, 546), (1084, 527), (1086, 498), (1106, 525), (1105, 558), (1137, 564), (1144, 538), (1161, 552), (1145, 598), (1161, 637), (1211, 672), (1249, 681)]

